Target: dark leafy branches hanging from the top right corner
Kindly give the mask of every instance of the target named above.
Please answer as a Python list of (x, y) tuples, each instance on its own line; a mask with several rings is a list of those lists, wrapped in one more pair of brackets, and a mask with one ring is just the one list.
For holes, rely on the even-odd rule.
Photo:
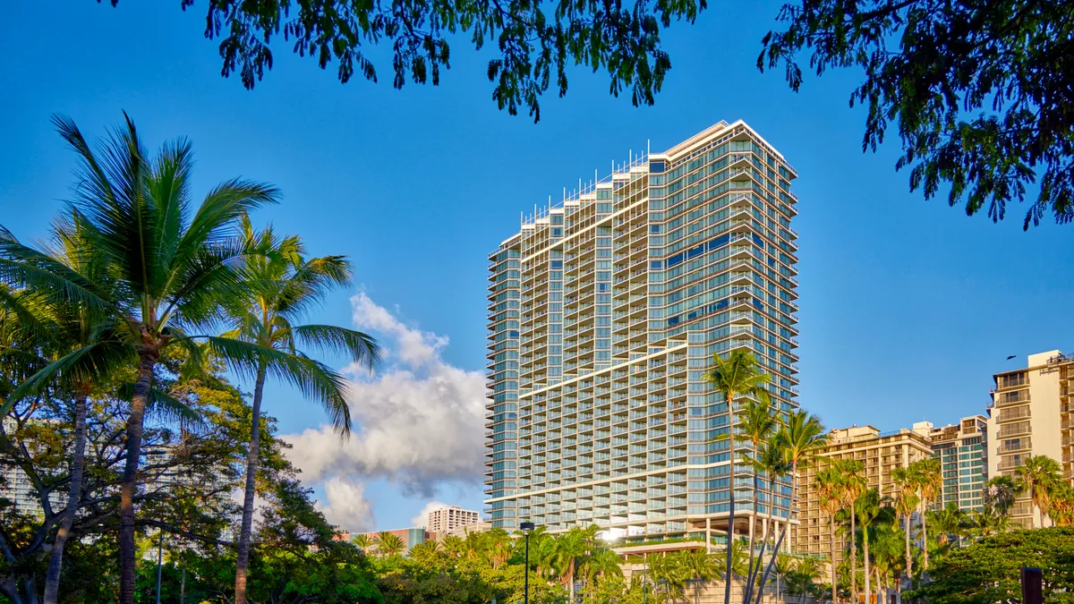
[(851, 102), (867, 106), (862, 149), (898, 125), (911, 189), (966, 212), (988, 207), (992, 220), (1022, 201), (1040, 176), (1024, 228), (1049, 211), (1074, 220), (1074, 80), (1069, 0), (797, 0), (769, 32), (760, 69), (785, 67), (802, 83), (798, 56), (817, 75), (856, 66), (865, 81)]

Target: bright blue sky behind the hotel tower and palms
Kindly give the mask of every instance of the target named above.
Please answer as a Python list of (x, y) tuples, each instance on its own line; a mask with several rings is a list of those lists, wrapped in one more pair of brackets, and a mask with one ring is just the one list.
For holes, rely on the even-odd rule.
[[(378, 332), (392, 348), (386, 373), (434, 387), (411, 389), (412, 413), (423, 413), (421, 392), (432, 392), (435, 405), (455, 391), (437, 386), (456, 377), (473, 385), (479, 375), (485, 256), (517, 230), (520, 211), (594, 169), (605, 174), (647, 143), (662, 150), (721, 119), (746, 120), (800, 174), (800, 402), (829, 426), (889, 430), (982, 413), (993, 371), (1030, 353), (1074, 348), (1074, 271), (1060, 260), (1074, 249), (1074, 227), (1025, 233), (1024, 205), (993, 225), (910, 193), (906, 175), (894, 170), (894, 132), (880, 153), (861, 153), (863, 114), (847, 107), (857, 72), (808, 77), (799, 94), (782, 73), (758, 73), (775, 2), (717, 2), (695, 26), (667, 31), (672, 69), (655, 106), (634, 107), (608, 94), (604, 75), (574, 70), (567, 96), (545, 98), (537, 125), (496, 110), (484, 76), (489, 55), (463, 40), (439, 87), (394, 90), (382, 52), (374, 53), (380, 84), (342, 85), (331, 68), (322, 72), (277, 45), (275, 69), (247, 91), (219, 75), (216, 45), (201, 34), (204, 2), (185, 13), (178, 5), (8, 8), (0, 25), (0, 224), (24, 239), (40, 236), (67, 195), (73, 161), (48, 124), (54, 112), (101, 134), (126, 110), (151, 146), (187, 135), (199, 161), (198, 192), (236, 175), (271, 182), (285, 202), (256, 221), (302, 234), (313, 254), (350, 256), (368, 301), (363, 308), (387, 310), (395, 321), (360, 317), (389, 330)], [(311, 320), (351, 325), (355, 291), (333, 296)], [(406, 334), (432, 361), (404, 362)], [(420, 422), (405, 430), (400, 417), (383, 417), (402, 400), (390, 390), (400, 383), (375, 384), (383, 404), (359, 416), (381, 437), (433, 456), (445, 430)], [(266, 408), (286, 433), (324, 421), (282, 387), (271, 387)], [(436, 426), (430, 421), (424, 426)], [(449, 436), (455, 442), (442, 450), (481, 434)], [(322, 480), (338, 478), (332, 506), (342, 522), (372, 515), (368, 526), (408, 524), (431, 499), (480, 505), (475, 464), (420, 456), (412, 464), (421, 468), (374, 462), (377, 447), (359, 442), (367, 450), (325, 461), (310, 480), (330, 499)]]

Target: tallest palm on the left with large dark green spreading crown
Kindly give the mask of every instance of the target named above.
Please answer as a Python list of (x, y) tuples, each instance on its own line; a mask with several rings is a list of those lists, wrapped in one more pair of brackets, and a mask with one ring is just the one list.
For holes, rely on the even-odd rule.
[[(158, 360), (168, 346), (179, 344), (197, 362), (195, 340), (207, 342), (234, 368), (249, 366), (265, 356), (252, 346), (221, 346), (219, 339), (191, 336), (188, 331), (211, 327), (224, 301), (234, 296), (238, 278), (232, 265), (243, 256), (231, 239), (236, 220), (260, 205), (275, 203), (277, 191), (266, 185), (229, 181), (212, 189), (191, 215), (189, 142), (165, 144), (150, 158), (128, 117), (126, 128), (95, 150), (70, 119), (54, 117), (53, 123), (79, 156), (79, 184), (72, 208), (82, 217), (82, 236), (104, 259), (115, 288), (105, 291), (85, 275), (11, 240), (0, 244), (0, 253), (8, 257), (4, 281), (37, 292), (62, 291), (107, 316), (122, 330), (119, 343), (137, 357), (119, 489), (119, 601), (132, 604), (134, 497), (145, 409)], [(57, 362), (66, 364), (70, 359)], [(310, 366), (302, 363), (282, 371), (293, 374), (302, 386), (338, 390), (335, 382), (324, 384), (307, 375)]]

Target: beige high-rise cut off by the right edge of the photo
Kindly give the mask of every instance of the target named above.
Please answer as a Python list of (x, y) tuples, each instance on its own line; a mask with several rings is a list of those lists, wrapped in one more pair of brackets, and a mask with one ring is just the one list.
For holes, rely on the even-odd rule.
[[(1030, 355), (1025, 369), (997, 373), (993, 379), (989, 476), (1014, 477), (1027, 457), (1044, 455), (1059, 461), (1065, 478), (1074, 480), (1074, 355), (1059, 350)], [(1016, 500), (1011, 520), (1027, 528), (1042, 526), (1028, 493)]]

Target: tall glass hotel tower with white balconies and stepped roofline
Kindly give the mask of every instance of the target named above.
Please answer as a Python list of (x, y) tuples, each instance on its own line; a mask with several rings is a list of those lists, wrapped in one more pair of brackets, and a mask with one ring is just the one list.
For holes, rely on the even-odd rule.
[[(614, 166), (490, 255), (493, 527), (726, 530), (729, 413), (702, 374), (749, 347), (773, 404), (796, 406), (795, 176), (752, 128), (722, 121)], [(786, 518), (788, 483), (770, 498), (763, 478), (756, 508), (749, 465), (734, 485), (737, 531)]]

